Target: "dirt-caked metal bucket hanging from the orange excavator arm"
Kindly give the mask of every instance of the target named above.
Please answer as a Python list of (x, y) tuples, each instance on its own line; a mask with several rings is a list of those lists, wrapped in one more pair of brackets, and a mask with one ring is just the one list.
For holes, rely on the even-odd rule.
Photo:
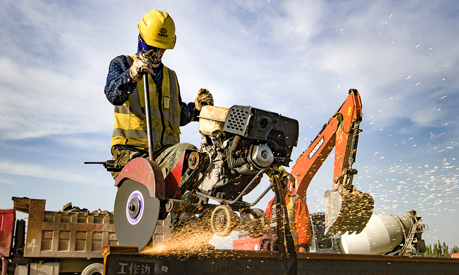
[(374, 200), (370, 194), (351, 186), (348, 191), (342, 184), (335, 190), (326, 190), (325, 234), (341, 231), (359, 234), (367, 225), (373, 213)]

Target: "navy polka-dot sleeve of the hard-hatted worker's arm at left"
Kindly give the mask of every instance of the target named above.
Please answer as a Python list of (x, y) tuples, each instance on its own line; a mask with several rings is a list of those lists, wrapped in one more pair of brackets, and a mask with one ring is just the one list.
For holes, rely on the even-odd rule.
[(136, 82), (129, 75), (129, 63), (125, 56), (118, 56), (110, 62), (105, 95), (113, 105), (120, 106), (136, 89)]

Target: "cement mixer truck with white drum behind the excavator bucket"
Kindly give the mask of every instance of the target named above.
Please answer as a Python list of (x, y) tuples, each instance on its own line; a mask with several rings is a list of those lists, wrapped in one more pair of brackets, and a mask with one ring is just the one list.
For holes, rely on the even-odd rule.
[[(422, 233), (425, 231), (416, 211), (404, 216), (372, 215), (359, 234), (325, 234), (325, 214), (311, 217), (312, 242), (310, 252), (413, 256), (425, 252)], [(270, 238), (238, 238), (233, 240), (234, 250), (270, 250)]]

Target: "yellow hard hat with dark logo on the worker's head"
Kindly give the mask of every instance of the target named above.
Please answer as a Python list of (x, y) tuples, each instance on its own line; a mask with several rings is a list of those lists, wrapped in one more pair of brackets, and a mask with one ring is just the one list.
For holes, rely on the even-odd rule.
[(175, 24), (167, 12), (152, 10), (137, 24), (145, 42), (161, 49), (173, 49), (175, 46)]

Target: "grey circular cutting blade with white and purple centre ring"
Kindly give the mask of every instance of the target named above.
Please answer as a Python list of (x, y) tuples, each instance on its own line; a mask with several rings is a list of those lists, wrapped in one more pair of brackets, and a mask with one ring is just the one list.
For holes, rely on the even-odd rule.
[(142, 250), (155, 232), (160, 201), (150, 197), (148, 188), (126, 179), (118, 188), (114, 209), (115, 234), (120, 245)]

